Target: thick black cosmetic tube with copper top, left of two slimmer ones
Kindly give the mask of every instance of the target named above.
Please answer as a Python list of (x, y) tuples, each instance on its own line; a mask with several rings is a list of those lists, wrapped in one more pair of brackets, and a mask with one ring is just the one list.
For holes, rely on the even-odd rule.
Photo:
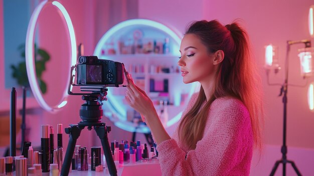
[(42, 172), (50, 172), (50, 125), (42, 125)]

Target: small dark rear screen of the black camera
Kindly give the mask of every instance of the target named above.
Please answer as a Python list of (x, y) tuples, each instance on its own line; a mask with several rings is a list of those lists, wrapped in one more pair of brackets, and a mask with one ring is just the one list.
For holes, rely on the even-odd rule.
[(102, 82), (102, 65), (86, 65), (86, 82)]

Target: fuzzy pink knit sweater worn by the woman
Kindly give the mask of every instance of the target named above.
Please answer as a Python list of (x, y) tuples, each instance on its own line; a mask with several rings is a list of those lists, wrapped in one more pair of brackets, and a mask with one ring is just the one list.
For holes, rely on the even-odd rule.
[[(183, 116), (197, 96), (192, 95)], [(160, 143), (157, 150), (163, 175), (249, 175), (253, 152), (249, 112), (237, 99), (216, 99), (195, 149), (188, 150), (179, 141), (177, 129), (173, 138)]]

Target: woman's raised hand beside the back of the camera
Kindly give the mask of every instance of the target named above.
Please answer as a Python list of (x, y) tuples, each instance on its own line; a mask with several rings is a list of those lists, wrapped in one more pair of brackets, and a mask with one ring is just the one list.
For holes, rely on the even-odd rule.
[[(138, 88), (132, 80), (129, 79), (128, 83), (129, 85), (126, 86), (127, 91), (125, 92), (125, 99), (128, 104), (144, 117), (156, 111), (146, 93)], [(144, 121), (144, 119), (142, 120)]]

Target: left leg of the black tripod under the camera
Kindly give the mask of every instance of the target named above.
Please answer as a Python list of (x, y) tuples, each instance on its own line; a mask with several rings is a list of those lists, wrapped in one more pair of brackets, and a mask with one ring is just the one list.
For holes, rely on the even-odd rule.
[(76, 141), (81, 134), (81, 128), (78, 125), (71, 125), (69, 128), (65, 128), (65, 132), (70, 134), (69, 144), (67, 147), (67, 151), (65, 153), (64, 162), (61, 168), (61, 175), (69, 175), (69, 170), (71, 166), (71, 160), (75, 148)]

